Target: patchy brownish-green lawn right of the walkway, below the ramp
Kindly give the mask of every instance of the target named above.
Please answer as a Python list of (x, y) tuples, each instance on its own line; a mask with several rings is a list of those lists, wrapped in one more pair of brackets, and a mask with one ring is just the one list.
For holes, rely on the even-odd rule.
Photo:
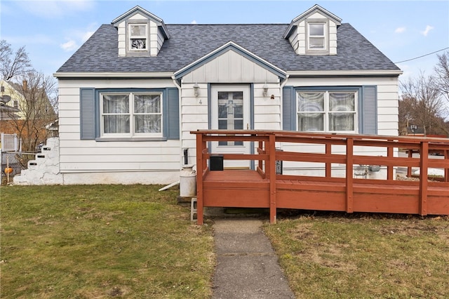
[(266, 225), (297, 298), (448, 298), (449, 218), (321, 213)]

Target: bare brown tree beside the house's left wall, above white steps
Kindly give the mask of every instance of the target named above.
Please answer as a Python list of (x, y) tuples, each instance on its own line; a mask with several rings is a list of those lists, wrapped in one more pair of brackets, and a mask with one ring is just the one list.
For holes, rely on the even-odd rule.
[(11, 83), (22, 95), (18, 101), (18, 117), (11, 117), (8, 126), (18, 133), (22, 140), (22, 150), (33, 152), (36, 146), (49, 137), (48, 126), (58, 119), (56, 112), (57, 96), (54, 95), (55, 81), (36, 71), (19, 77), (20, 81)]

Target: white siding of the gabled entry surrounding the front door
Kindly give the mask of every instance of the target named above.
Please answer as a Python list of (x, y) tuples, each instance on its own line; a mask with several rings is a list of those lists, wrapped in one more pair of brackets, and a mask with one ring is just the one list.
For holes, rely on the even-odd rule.
[[(199, 85), (198, 97), (194, 95), (194, 84)], [(210, 128), (208, 93), (213, 84), (251, 84), (253, 129), (281, 128), (279, 77), (235, 51), (226, 51), (182, 77), (181, 136), (182, 148), (189, 149), (189, 164), (196, 161), (196, 136), (190, 131)], [(264, 84), (269, 86), (266, 97), (263, 96)], [(271, 95), (274, 95), (274, 100), (271, 100)]]

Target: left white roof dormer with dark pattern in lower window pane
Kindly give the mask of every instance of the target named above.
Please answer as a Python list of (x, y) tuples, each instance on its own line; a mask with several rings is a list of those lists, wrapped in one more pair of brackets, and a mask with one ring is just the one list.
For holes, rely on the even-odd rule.
[(157, 56), (163, 41), (170, 38), (163, 20), (140, 6), (123, 13), (111, 24), (119, 32), (120, 57)]

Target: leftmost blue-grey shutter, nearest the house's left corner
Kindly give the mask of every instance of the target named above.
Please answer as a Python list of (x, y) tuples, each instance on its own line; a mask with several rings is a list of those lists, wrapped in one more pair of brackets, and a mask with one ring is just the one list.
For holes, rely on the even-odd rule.
[(80, 139), (95, 139), (95, 88), (80, 88)]

